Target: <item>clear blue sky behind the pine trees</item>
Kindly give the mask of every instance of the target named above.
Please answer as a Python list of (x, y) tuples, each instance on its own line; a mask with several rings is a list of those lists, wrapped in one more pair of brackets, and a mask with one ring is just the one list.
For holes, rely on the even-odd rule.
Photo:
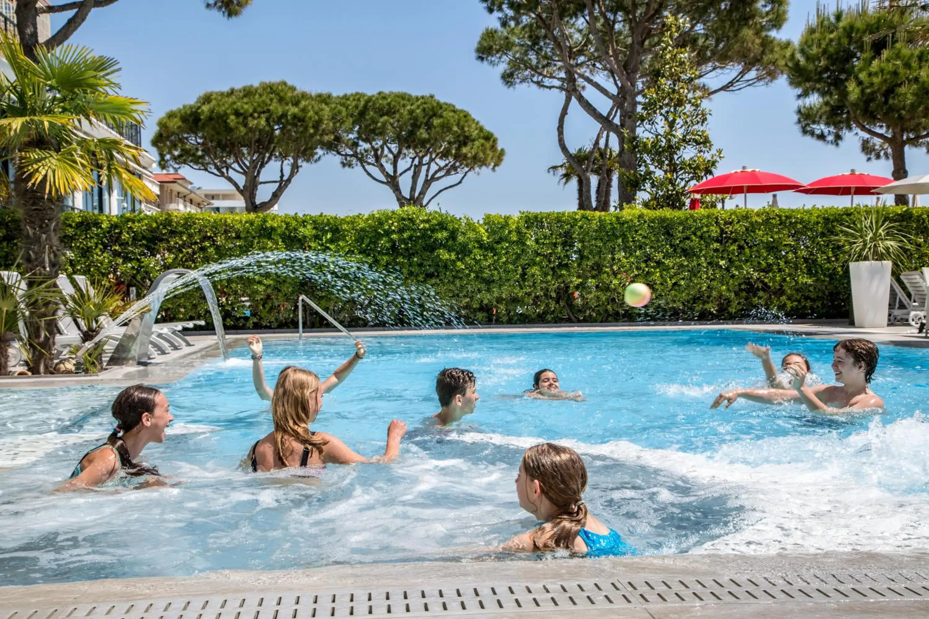
[[(815, 0), (794, 0), (781, 36), (795, 39), (815, 8)], [(529, 86), (505, 88), (496, 70), (475, 59), (478, 35), (493, 24), (478, 0), (255, 0), (231, 20), (205, 10), (201, 0), (121, 0), (94, 10), (72, 42), (120, 60), (124, 92), (150, 101), (146, 143), (165, 111), (206, 90), (286, 80), (335, 94), (433, 94), (468, 110), (506, 149), (497, 172), (467, 178), (437, 199), (439, 208), (473, 217), (573, 210), (574, 188), (559, 187), (546, 172), (561, 160), (555, 136), (560, 97)], [(747, 165), (802, 182), (851, 168), (890, 175), (889, 162), (866, 161), (856, 139), (834, 148), (800, 135), (795, 107), (783, 81), (714, 97), (710, 132), (725, 156), (719, 172)], [(576, 108), (568, 131), (578, 146), (595, 133)], [(929, 156), (910, 149), (908, 168), (929, 173)], [(225, 186), (208, 174), (182, 172), (203, 187)], [(749, 205), (765, 200), (750, 196)], [(848, 203), (793, 193), (780, 193), (778, 200), (781, 206)], [(283, 213), (381, 208), (396, 208), (390, 191), (360, 170), (341, 169), (334, 158), (305, 167), (281, 200)]]

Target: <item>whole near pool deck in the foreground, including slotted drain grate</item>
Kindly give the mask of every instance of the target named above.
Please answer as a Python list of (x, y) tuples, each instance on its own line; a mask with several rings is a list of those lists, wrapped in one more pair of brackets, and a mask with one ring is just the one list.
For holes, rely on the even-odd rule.
[[(132, 543), (132, 536), (124, 537)], [(0, 587), (0, 619), (925, 617), (929, 554), (381, 563)]]

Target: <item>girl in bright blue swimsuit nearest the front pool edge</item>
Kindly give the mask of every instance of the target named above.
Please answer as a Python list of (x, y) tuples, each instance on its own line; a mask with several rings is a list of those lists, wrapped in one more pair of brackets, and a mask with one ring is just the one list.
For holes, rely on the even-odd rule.
[(543, 443), (523, 454), (517, 475), (519, 507), (544, 521), (541, 526), (517, 535), (501, 549), (537, 552), (564, 549), (588, 557), (636, 554), (622, 537), (587, 510), (583, 491), (587, 469), (577, 452)]

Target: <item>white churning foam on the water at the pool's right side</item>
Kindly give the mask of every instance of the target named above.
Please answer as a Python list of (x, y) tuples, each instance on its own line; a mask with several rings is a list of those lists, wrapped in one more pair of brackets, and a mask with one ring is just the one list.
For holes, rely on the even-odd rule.
[[(519, 448), (542, 442), (477, 432), (458, 438)], [(907, 551), (924, 548), (929, 536), (929, 423), (920, 414), (886, 426), (875, 419), (846, 438), (767, 438), (724, 445), (714, 454), (627, 441), (557, 442), (586, 456), (645, 464), (737, 492), (749, 508), (743, 526), (692, 552)]]

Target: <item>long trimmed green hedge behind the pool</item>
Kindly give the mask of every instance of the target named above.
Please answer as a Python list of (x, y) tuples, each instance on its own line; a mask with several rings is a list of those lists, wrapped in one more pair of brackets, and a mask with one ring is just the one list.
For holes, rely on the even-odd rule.
[[(67, 272), (110, 277), (139, 291), (167, 268), (195, 268), (254, 251), (320, 250), (399, 270), (433, 286), (479, 322), (848, 316), (846, 261), (829, 239), (849, 209), (485, 215), (419, 209), (367, 215), (156, 214), (64, 216)], [(929, 264), (929, 209), (894, 209), (920, 239), (907, 270)], [(0, 212), (0, 260), (13, 264), (18, 222)], [(644, 309), (622, 303), (646, 282)], [(294, 327), (307, 284), (287, 277), (216, 286), (230, 329)], [(577, 293), (577, 294), (575, 294)], [(351, 309), (325, 303), (348, 324)], [(250, 303), (249, 305), (246, 305)], [(244, 316), (250, 309), (251, 316)], [(493, 311), (496, 310), (494, 314)], [(165, 319), (203, 318), (198, 294), (164, 305)]]

